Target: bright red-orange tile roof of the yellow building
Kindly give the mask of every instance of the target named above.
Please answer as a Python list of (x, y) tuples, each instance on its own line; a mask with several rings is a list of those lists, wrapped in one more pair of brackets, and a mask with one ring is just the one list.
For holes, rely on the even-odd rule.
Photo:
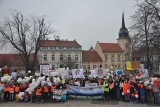
[(122, 52), (122, 48), (117, 43), (99, 43), (103, 52)]

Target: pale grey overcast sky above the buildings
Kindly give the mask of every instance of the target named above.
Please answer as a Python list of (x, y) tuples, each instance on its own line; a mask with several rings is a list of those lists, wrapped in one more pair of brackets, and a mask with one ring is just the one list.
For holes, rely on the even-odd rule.
[[(46, 16), (60, 39), (76, 40), (83, 50), (96, 42), (116, 43), (122, 12), (129, 30), (136, 0), (0, 0), (0, 22), (11, 10), (25, 17)], [(54, 34), (55, 35), (55, 34)], [(54, 37), (53, 35), (53, 37)]]

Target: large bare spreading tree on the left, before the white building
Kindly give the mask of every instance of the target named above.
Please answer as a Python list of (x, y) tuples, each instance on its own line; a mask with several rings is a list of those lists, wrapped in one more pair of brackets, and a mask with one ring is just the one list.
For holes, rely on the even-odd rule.
[(12, 12), (12, 19), (7, 18), (0, 25), (3, 44), (11, 44), (21, 54), (26, 71), (33, 73), (38, 51), (43, 45), (41, 40), (51, 33), (45, 17), (25, 18), (20, 12)]

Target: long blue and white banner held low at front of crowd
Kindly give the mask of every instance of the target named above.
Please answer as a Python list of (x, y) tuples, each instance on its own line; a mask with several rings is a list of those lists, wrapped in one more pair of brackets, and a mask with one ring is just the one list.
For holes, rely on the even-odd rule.
[(103, 86), (79, 87), (67, 85), (67, 94), (74, 95), (103, 95)]

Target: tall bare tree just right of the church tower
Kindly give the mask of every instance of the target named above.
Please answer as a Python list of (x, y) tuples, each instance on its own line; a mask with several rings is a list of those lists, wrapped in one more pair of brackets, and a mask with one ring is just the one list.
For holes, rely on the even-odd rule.
[[(150, 34), (152, 26), (155, 23), (153, 9), (147, 6), (144, 2), (137, 4), (137, 11), (132, 16), (133, 23), (131, 26), (131, 30), (134, 32), (134, 37), (136, 43), (134, 46), (135, 49), (139, 48), (139, 50), (146, 53), (147, 69), (150, 68), (150, 40), (152, 35)], [(137, 39), (138, 38), (138, 39)]]

